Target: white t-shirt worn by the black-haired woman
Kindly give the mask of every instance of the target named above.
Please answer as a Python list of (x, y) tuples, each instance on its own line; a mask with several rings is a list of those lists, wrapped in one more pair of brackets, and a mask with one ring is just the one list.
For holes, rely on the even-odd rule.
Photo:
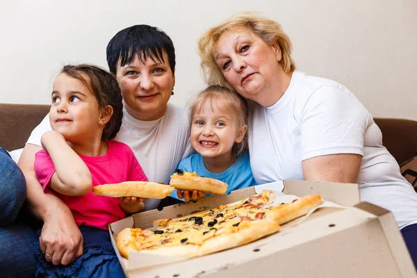
[[(40, 138), (51, 130), (49, 116), (36, 126), (26, 144), (40, 146)], [(179, 161), (193, 153), (190, 145), (190, 124), (185, 109), (168, 104), (163, 117), (141, 121), (123, 109), (122, 126), (115, 137), (133, 150), (149, 181), (168, 183)], [(148, 199), (145, 210), (156, 208), (161, 200)]]

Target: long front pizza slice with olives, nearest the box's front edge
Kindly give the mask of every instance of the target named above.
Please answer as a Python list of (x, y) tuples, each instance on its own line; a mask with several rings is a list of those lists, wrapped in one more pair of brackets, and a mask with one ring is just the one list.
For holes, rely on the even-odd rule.
[[(117, 249), (129, 258), (129, 251), (163, 256), (195, 257), (251, 243), (279, 231), (272, 220), (234, 218), (215, 225), (172, 230), (165, 228), (147, 236), (147, 230), (126, 228), (116, 239)], [(152, 232), (152, 231), (151, 231)]]

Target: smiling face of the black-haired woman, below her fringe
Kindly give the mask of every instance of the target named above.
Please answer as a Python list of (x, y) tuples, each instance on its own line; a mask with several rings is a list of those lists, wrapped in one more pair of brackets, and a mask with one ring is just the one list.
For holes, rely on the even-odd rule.
[(138, 120), (158, 120), (165, 114), (175, 76), (165, 52), (163, 60), (148, 56), (142, 63), (137, 57), (131, 64), (117, 65), (117, 82), (126, 111)]

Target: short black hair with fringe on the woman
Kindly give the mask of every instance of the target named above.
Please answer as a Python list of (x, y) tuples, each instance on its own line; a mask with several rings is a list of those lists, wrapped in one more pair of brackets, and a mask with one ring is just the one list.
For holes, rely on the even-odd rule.
[(171, 38), (161, 29), (145, 24), (133, 25), (119, 31), (107, 44), (106, 55), (108, 69), (116, 74), (117, 63), (132, 63), (136, 57), (142, 63), (150, 57), (165, 63), (163, 51), (168, 56), (172, 74), (175, 68), (175, 49)]

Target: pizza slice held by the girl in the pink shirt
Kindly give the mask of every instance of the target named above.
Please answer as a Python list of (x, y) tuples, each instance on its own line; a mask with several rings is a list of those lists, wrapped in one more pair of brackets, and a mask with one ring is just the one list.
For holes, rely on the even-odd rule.
[(149, 181), (125, 181), (122, 183), (94, 186), (92, 192), (99, 196), (109, 197), (140, 197), (147, 199), (163, 199), (169, 196), (174, 188), (161, 183)]

